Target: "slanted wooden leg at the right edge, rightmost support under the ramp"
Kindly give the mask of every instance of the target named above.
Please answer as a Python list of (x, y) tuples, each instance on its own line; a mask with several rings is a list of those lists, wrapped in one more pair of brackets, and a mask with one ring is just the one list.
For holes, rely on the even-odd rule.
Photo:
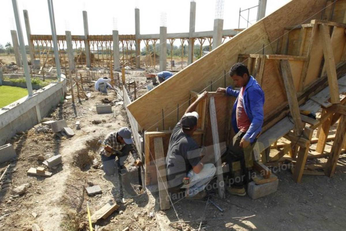
[(326, 164), (326, 168), (325, 168), (326, 176), (332, 177), (334, 175), (336, 165), (339, 160), (340, 152), (343, 148), (345, 133), (346, 133), (346, 116), (342, 115), (340, 117), (340, 121), (339, 121), (338, 128), (336, 130), (333, 146), (331, 147), (329, 158)]

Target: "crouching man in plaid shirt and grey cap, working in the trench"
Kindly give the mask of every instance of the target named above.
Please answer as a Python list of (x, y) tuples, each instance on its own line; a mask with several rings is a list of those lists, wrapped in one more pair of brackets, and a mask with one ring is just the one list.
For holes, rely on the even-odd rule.
[(114, 150), (121, 152), (121, 154), (118, 155), (120, 170), (125, 170), (124, 161), (127, 159), (129, 152), (133, 149), (133, 140), (129, 128), (121, 127), (119, 131), (109, 133), (102, 144), (103, 148), (100, 150), (100, 155), (104, 173), (106, 175), (113, 175), (115, 173), (115, 159), (117, 155), (114, 153)]

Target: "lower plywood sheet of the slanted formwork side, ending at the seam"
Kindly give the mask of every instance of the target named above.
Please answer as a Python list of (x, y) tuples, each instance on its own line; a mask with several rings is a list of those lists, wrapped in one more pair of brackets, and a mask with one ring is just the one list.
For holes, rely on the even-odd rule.
[[(173, 127), (177, 121), (177, 104), (180, 106), (180, 113), (186, 110), (190, 90), (210, 90), (211, 81), (212, 90), (224, 87), (225, 70), (227, 72), (237, 62), (238, 54), (256, 53), (263, 44), (268, 43), (264, 25), (258, 22), (135, 100), (128, 109), (144, 130), (155, 131), (156, 127), (162, 130), (162, 109), (165, 127)], [(266, 49), (266, 52), (272, 54), (271, 50)], [(231, 78), (226, 78), (226, 85), (230, 83)], [(145, 114), (143, 108), (146, 110)]]

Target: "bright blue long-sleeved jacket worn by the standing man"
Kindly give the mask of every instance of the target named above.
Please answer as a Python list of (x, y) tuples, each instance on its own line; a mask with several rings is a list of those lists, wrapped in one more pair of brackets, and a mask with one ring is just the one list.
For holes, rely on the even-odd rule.
[[(236, 118), (236, 108), (238, 104), (239, 92), (240, 91), (238, 90), (233, 90), (231, 86), (226, 89), (227, 95), (237, 97), (232, 110), (232, 126), (235, 133), (239, 132)], [(264, 104), (264, 92), (261, 86), (252, 76), (245, 87), (243, 98), (243, 107), (246, 115), (249, 117), (249, 120), (251, 122), (249, 129), (244, 135), (244, 139), (252, 143), (262, 130)]]

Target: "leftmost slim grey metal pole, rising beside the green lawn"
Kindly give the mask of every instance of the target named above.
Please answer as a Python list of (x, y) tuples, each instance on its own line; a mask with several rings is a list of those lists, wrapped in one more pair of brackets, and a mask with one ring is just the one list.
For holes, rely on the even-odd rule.
[(18, 11), (17, 0), (12, 0), (12, 6), (13, 6), (13, 13), (15, 14), (17, 33), (18, 33), (18, 38), (19, 38), (19, 47), (20, 47), (20, 53), (22, 56), (22, 62), (23, 62), (25, 80), (26, 80), (26, 87), (28, 89), (28, 95), (29, 95), (29, 97), (31, 97), (31, 96), (33, 96), (33, 87), (31, 86), (30, 71), (29, 71), (28, 59), (26, 57), (26, 50), (25, 50), (23, 33), (22, 33), (21, 24), (20, 24), (20, 20), (19, 20), (19, 11)]

